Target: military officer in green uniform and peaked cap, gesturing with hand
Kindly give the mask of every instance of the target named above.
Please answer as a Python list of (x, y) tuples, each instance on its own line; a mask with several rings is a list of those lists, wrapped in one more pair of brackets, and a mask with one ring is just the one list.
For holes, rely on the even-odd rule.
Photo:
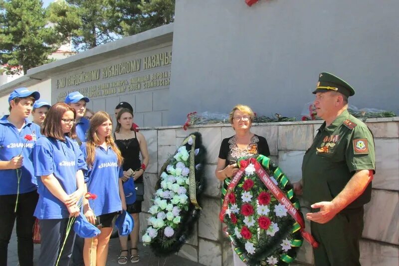
[[(373, 135), (348, 113), (355, 90), (330, 73), (320, 73), (314, 105), (324, 120), (302, 162), (296, 192), (311, 204), (316, 266), (360, 266), (363, 205), (370, 201), (375, 173)], [(303, 191), (302, 191), (303, 188)]]

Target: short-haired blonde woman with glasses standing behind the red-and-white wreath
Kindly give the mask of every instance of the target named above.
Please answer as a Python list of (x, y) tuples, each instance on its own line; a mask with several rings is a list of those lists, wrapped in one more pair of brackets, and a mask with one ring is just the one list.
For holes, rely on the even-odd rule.
[[(236, 163), (240, 157), (270, 155), (266, 139), (250, 131), (254, 117), (252, 110), (245, 105), (236, 105), (230, 113), (229, 120), (235, 134), (222, 140), (215, 170), (217, 179), (224, 181), (225, 189), (238, 171)], [(234, 251), (233, 259), (234, 266), (245, 265)]]

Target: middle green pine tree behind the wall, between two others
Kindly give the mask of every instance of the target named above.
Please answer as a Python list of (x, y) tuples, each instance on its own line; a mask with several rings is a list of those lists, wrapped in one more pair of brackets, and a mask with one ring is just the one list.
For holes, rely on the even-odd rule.
[(48, 7), (50, 21), (56, 29), (72, 39), (76, 50), (87, 50), (113, 41), (114, 32), (110, 0), (58, 0)]

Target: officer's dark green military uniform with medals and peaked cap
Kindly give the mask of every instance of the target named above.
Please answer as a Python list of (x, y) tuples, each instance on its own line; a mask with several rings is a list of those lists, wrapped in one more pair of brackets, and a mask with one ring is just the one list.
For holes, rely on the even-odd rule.
[[(324, 77), (324, 78), (323, 78)], [(329, 79), (324, 82), (323, 79)], [(316, 92), (346, 89), (349, 84), (329, 73), (321, 73)], [(342, 83), (344, 82), (344, 83)], [(349, 86), (350, 89), (346, 88)], [(339, 88), (339, 89), (337, 89)], [(356, 170), (375, 169), (373, 135), (367, 126), (345, 110), (326, 127), (324, 123), (303, 157), (303, 197), (314, 204), (333, 200)], [(356, 266), (359, 239), (363, 231), (363, 205), (370, 201), (371, 183), (364, 193), (326, 224), (311, 222), (312, 235), (319, 242), (314, 249), (316, 266)], [(317, 212), (319, 209), (313, 209)]]

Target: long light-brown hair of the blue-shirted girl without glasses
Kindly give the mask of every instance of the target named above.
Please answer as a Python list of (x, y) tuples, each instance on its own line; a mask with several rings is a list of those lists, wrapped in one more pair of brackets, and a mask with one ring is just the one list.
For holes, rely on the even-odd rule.
[[(99, 111), (95, 113), (90, 120), (90, 128), (87, 133), (87, 142), (86, 142), (86, 150), (87, 150), (86, 163), (87, 166), (89, 167), (93, 166), (93, 162), (95, 160), (95, 155), (96, 155), (96, 146), (101, 144), (100, 139), (97, 135), (97, 129), (107, 120), (111, 121), (112, 123), (110, 115), (108, 115), (108, 113), (104, 111)], [(107, 143), (107, 145), (111, 146), (111, 149), (115, 152), (116, 157), (118, 159), (118, 165), (121, 166), (123, 163), (123, 157), (118, 146), (115, 144), (112, 133), (105, 138), (105, 142)]]

